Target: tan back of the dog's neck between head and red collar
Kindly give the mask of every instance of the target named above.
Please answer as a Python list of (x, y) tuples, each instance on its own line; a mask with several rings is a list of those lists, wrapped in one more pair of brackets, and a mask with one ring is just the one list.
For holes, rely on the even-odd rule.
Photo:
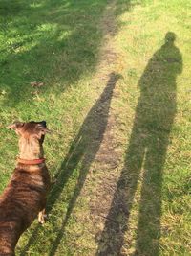
[(33, 138), (19, 139), (19, 158), (25, 160), (34, 160), (44, 157), (44, 151), (39, 141)]

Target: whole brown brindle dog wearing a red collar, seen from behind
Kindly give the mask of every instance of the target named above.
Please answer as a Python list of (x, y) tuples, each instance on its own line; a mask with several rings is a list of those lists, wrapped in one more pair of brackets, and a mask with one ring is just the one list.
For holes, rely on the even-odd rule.
[(46, 122), (15, 122), (9, 126), (19, 135), (19, 158), (11, 181), (0, 197), (0, 255), (15, 255), (21, 234), (38, 215), (44, 223), (50, 175), (43, 158), (43, 141), (50, 130)]

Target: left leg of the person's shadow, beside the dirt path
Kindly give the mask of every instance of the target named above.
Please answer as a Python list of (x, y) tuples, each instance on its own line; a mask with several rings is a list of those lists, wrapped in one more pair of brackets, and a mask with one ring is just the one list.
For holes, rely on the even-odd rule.
[(128, 230), (128, 221), (138, 185), (138, 178), (145, 153), (146, 141), (139, 132), (139, 123), (135, 120), (124, 168), (117, 182), (110, 212), (99, 238), (97, 256), (120, 255), (124, 234)]

